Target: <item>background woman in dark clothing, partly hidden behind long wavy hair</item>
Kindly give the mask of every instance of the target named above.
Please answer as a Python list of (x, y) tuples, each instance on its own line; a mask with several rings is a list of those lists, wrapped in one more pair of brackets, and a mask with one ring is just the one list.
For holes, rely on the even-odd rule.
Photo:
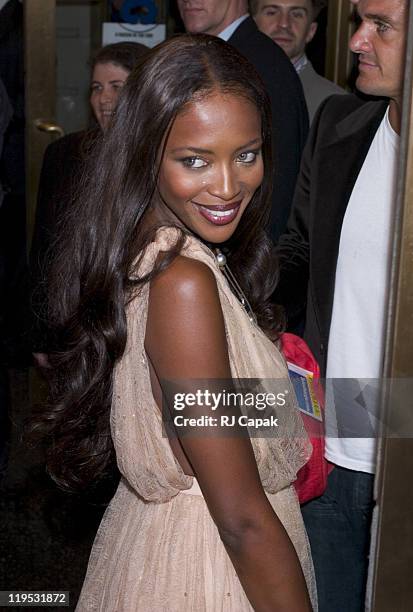
[(47, 268), (53, 256), (56, 225), (75, 198), (85, 161), (100, 133), (108, 128), (128, 75), (148, 50), (144, 45), (133, 42), (102, 47), (91, 64), (91, 127), (67, 134), (46, 149), (30, 252), (31, 343), (35, 360), (40, 366), (47, 365), (46, 355), (52, 342), (44, 319), (48, 293)]

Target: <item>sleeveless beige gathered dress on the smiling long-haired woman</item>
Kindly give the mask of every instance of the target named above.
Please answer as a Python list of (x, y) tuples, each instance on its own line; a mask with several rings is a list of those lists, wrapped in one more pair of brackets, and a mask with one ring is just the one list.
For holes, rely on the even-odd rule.
[[(177, 231), (162, 228), (146, 249), (138, 273), (150, 271)], [(213, 271), (224, 315), (234, 378), (287, 377), (282, 356), (251, 323), (212, 252), (188, 236), (182, 255)], [(111, 432), (122, 474), (99, 527), (76, 610), (101, 612), (251, 612), (195, 478), (183, 473), (152, 396), (144, 349), (149, 285), (127, 307), (128, 340), (115, 367)], [(313, 565), (291, 483), (311, 447), (294, 393), (282, 419), (293, 434), (252, 438), (264, 490), (300, 559), (314, 610)], [(277, 567), (274, 567), (277, 572)]]

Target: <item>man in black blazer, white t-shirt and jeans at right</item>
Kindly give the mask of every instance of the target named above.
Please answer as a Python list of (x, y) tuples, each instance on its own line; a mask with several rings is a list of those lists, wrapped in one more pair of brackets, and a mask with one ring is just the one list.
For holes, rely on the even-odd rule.
[(303, 506), (320, 612), (364, 609), (408, 19), (408, 0), (353, 4), (357, 87), (381, 99), (321, 105), (278, 245), (276, 298), (290, 321), (306, 302), (304, 337), (328, 383), (334, 469), (325, 494)]

